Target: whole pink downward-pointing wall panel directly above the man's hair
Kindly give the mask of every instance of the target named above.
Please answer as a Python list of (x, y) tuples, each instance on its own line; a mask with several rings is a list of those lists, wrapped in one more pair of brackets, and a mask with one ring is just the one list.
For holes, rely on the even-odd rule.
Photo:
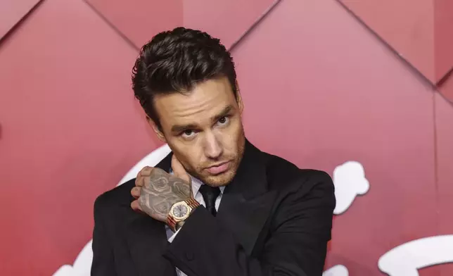
[(158, 32), (183, 25), (219, 37), (229, 49), (280, 0), (85, 1), (136, 49)]

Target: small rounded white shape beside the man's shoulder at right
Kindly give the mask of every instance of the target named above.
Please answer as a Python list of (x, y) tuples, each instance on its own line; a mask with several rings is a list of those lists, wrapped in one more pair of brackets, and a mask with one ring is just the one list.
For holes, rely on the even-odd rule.
[(369, 182), (364, 167), (357, 161), (347, 161), (333, 170), (337, 204), (333, 213), (340, 215), (349, 208), (357, 195), (366, 194)]

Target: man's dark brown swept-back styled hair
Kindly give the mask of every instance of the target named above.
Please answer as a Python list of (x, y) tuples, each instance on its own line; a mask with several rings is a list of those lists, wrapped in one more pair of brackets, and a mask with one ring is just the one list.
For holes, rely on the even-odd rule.
[(160, 32), (141, 48), (132, 87), (146, 115), (160, 128), (155, 95), (190, 92), (194, 85), (216, 77), (227, 77), (236, 96), (234, 61), (220, 39), (177, 27)]

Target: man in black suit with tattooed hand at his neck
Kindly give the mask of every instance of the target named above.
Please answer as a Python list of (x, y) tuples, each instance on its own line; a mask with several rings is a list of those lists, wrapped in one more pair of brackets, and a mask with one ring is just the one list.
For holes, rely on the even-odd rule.
[(133, 73), (148, 123), (172, 153), (96, 199), (91, 275), (321, 275), (331, 177), (245, 139), (234, 62), (219, 39), (162, 32)]

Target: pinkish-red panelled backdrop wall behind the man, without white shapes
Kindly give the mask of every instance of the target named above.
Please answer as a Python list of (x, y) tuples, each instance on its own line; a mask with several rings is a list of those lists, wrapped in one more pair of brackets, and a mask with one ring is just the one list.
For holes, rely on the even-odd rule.
[[(428, 14), (426, 3), (401, 0), (393, 17), (369, 13), (373, 1), (28, 2), (0, 5), (2, 275), (72, 263), (91, 239), (96, 196), (160, 146), (130, 75), (139, 46), (177, 25), (234, 46), (245, 130), (262, 150), (328, 172), (364, 165), (370, 191), (335, 218), (326, 268), (382, 275), (386, 251), (453, 233), (453, 64), (439, 58), (452, 43), (442, 39), (453, 30), (446, 1)], [(414, 23), (418, 11), (427, 14)], [(393, 39), (388, 18), (411, 33)], [(409, 43), (414, 34), (424, 44)], [(452, 274), (453, 265), (421, 270)]]

